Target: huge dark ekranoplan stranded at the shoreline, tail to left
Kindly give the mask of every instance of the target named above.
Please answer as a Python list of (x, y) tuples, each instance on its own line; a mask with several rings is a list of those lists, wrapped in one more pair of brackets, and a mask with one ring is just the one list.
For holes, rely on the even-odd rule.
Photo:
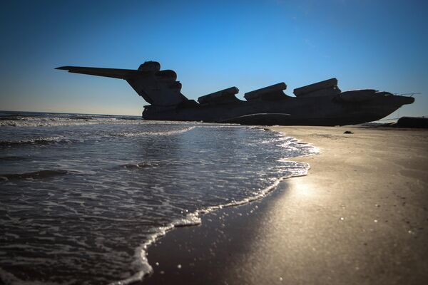
[(138, 68), (91, 68), (62, 66), (71, 73), (126, 80), (151, 105), (144, 106), (146, 120), (196, 120), (245, 125), (354, 125), (379, 120), (414, 98), (373, 89), (342, 92), (337, 79), (296, 88), (295, 97), (285, 95), (285, 83), (245, 93), (246, 100), (231, 87), (189, 100), (181, 93), (174, 71), (161, 71), (161, 64), (147, 61)]

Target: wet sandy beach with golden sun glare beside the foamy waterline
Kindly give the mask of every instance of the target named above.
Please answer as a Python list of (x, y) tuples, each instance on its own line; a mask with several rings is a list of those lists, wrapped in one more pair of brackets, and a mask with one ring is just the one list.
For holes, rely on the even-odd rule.
[(272, 129), (320, 148), (309, 174), (169, 232), (142, 283), (427, 284), (428, 130)]

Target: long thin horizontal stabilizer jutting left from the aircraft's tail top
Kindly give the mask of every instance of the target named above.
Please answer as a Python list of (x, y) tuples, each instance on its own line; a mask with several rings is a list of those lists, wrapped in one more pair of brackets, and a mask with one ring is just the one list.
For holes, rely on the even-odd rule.
[(81, 66), (61, 66), (55, 69), (61, 69), (71, 73), (88, 74), (91, 76), (104, 76), (119, 79), (128, 79), (134, 76), (143, 75), (143, 71), (133, 69), (118, 69), (118, 68), (98, 68), (98, 67), (81, 67)]

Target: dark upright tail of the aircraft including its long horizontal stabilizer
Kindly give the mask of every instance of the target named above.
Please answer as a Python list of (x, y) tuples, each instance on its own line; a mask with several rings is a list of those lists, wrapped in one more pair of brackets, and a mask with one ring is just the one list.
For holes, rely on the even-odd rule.
[(146, 61), (138, 70), (81, 66), (61, 66), (56, 69), (124, 79), (138, 95), (152, 105), (172, 106), (188, 100), (181, 94), (181, 83), (176, 81), (177, 74), (169, 70), (161, 71), (161, 64), (156, 61)]

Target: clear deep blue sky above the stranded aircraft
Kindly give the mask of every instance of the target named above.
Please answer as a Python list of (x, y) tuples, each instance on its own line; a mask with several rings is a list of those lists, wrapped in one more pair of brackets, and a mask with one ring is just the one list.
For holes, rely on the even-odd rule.
[(188, 98), (336, 77), (342, 90), (422, 92), (399, 115), (428, 115), (427, 15), (422, 0), (3, 1), (0, 110), (141, 115), (126, 81), (54, 68), (153, 60)]

